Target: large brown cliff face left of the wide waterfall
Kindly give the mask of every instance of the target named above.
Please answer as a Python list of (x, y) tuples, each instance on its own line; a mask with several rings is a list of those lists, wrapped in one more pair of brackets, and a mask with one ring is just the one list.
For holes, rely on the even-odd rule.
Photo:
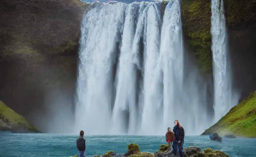
[(73, 109), (80, 21), (87, 6), (79, 0), (0, 2), (0, 98), (40, 131), (48, 129), (45, 121), (55, 109)]

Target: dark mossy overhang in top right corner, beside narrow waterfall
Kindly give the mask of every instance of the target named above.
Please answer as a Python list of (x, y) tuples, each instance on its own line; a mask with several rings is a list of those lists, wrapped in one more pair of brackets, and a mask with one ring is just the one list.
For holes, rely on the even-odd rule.
[(226, 22), (228, 25), (237, 25), (256, 21), (256, 0), (234, 1), (226, 0)]

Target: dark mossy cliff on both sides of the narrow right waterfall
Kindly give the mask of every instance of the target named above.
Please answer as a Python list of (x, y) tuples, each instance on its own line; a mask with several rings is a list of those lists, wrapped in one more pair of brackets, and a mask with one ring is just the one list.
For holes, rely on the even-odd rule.
[[(256, 89), (256, 0), (224, 0), (234, 90), (242, 101)], [(182, 0), (184, 42), (202, 74), (212, 80), (211, 1)]]

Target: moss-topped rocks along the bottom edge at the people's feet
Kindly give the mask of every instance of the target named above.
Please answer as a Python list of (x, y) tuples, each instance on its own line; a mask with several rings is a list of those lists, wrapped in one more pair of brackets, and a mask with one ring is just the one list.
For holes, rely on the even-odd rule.
[[(167, 150), (168, 146), (165, 144), (160, 145), (160, 149), (154, 154), (150, 152), (140, 152), (140, 148), (137, 144), (131, 143), (128, 145), (128, 151), (125, 154), (116, 154), (114, 151), (108, 151), (102, 156), (94, 155), (94, 157), (178, 157), (174, 155), (173, 149)], [(206, 148), (201, 151), (200, 148), (195, 146), (189, 146), (184, 148), (184, 157), (229, 157), (223, 151), (212, 150), (211, 148)], [(70, 156), (72, 157), (72, 156)], [(77, 155), (73, 156), (77, 157)]]

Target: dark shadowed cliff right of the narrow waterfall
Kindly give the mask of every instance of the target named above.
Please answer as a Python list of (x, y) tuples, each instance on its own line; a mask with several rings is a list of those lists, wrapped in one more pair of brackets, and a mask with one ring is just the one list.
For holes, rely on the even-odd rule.
[(256, 89), (256, 0), (224, 0), (234, 90), (240, 101)]

